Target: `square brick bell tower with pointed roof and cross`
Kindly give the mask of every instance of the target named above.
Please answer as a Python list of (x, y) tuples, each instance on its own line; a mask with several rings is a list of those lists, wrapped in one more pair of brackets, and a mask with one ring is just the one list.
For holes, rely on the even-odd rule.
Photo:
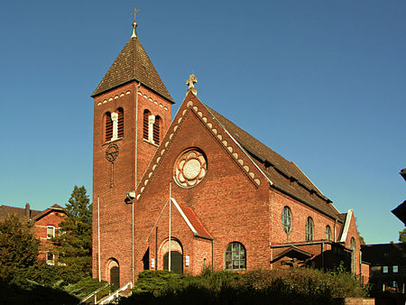
[[(134, 19), (137, 10), (134, 10)], [(134, 207), (125, 203), (163, 135), (174, 103), (133, 34), (91, 95), (93, 135), (93, 277), (133, 281)]]

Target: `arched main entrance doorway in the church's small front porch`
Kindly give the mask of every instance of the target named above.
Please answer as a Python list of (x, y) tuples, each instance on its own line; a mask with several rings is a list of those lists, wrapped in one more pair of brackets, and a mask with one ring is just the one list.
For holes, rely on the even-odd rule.
[[(170, 245), (169, 240), (166, 240), (161, 245), (161, 262), (162, 269), (169, 270)], [(173, 273), (183, 274), (183, 248), (180, 241), (171, 238), (171, 271)]]

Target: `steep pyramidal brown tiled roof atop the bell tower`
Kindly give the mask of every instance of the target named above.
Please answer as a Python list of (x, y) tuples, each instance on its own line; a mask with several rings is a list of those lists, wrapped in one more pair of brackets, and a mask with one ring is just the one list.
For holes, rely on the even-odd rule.
[(138, 38), (132, 37), (124, 49), (118, 54), (105, 77), (100, 81), (92, 97), (96, 97), (110, 89), (117, 88), (130, 81), (141, 82), (145, 87), (172, 101), (168, 89), (152, 65), (143, 45)]

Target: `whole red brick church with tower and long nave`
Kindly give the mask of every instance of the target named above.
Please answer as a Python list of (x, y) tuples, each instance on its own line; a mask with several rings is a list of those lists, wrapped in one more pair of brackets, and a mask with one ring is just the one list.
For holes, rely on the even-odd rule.
[(171, 120), (135, 28), (92, 95), (93, 276), (122, 286), (143, 270), (340, 262), (359, 274), (354, 211), (201, 101), (194, 76)]

